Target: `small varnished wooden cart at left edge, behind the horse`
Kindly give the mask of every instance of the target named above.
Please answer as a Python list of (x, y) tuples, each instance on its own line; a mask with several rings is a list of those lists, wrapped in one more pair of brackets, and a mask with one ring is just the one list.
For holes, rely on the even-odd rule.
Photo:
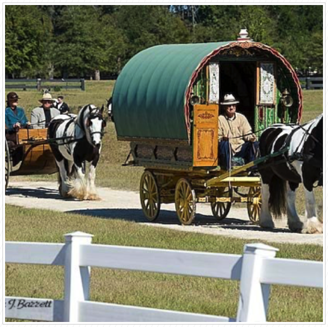
[[(20, 129), (5, 139), (5, 185), (10, 176), (54, 174), (57, 172), (47, 128)], [(9, 146), (8, 143), (11, 143)]]

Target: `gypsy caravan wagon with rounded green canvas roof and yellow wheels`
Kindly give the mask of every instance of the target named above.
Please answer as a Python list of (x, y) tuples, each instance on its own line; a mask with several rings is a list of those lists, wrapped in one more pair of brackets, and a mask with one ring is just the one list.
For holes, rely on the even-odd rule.
[(220, 167), (218, 115), (226, 93), (237, 96), (238, 112), (257, 136), (273, 123), (301, 118), (294, 69), (247, 34), (236, 41), (154, 46), (123, 68), (112, 113), (117, 139), (130, 142), (128, 164), (145, 167), (140, 199), (149, 220), (161, 203), (175, 203), (182, 224), (192, 223), (196, 203), (211, 203), (223, 219), (233, 202), (246, 203), (250, 220), (258, 220), (260, 179), (248, 172), (254, 162), (231, 171)]

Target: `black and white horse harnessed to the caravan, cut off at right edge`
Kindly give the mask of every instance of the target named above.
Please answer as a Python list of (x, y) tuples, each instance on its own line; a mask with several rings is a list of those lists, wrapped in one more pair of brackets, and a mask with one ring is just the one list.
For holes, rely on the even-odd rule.
[[(288, 227), (303, 233), (322, 233), (322, 223), (317, 218), (313, 187), (322, 186), (323, 179), (323, 114), (304, 125), (275, 124), (268, 127), (259, 138), (261, 156), (288, 150), (258, 165), (262, 182), (262, 206), (259, 224), (273, 228), (272, 213), (281, 217), (287, 213)], [(307, 224), (297, 215), (296, 189), (304, 186)]]

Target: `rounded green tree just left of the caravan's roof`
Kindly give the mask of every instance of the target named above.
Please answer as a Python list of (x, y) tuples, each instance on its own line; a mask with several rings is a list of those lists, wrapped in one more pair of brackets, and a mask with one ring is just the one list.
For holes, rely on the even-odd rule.
[(123, 37), (94, 6), (67, 6), (56, 24), (53, 61), (62, 75), (90, 75), (110, 71), (124, 49)]

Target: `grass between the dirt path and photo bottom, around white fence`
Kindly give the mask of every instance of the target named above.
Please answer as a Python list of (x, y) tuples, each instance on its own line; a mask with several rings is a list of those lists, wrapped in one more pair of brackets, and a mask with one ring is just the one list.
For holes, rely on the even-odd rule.
[[(76, 230), (94, 234), (98, 244), (238, 255), (256, 241), (6, 205), (6, 240), (63, 242), (63, 234)], [(323, 260), (320, 246), (268, 244), (280, 250), (279, 258)], [(238, 294), (236, 281), (99, 268), (91, 273), (93, 301), (235, 317)], [(7, 264), (6, 295), (61, 299), (63, 268)], [(273, 285), (268, 320), (322, 321), (322, 290)]]

